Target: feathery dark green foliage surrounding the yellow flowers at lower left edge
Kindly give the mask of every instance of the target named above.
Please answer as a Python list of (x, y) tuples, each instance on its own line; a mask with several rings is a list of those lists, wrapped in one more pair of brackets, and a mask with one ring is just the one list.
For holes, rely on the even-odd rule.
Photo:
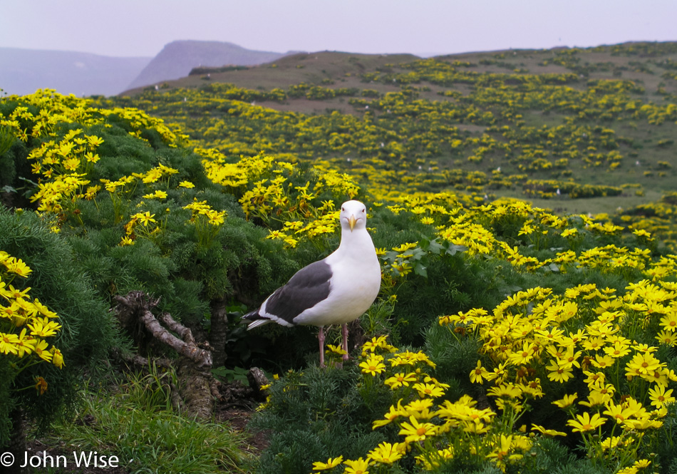
[[(66, 362), (63, 369), (38, 364), (21, 372), (14, 381), (16, 386), (32, 388), (34, 377), (43, 376), (48, 389), (43, 394), (31, 389), (2, 397), (0, 427), (7, 423), (6, 403), (16, 403), (45, 429), (54, 418), (72, 411), (83, 369), (100, 371), (111, 347), (120, 342), (107, 306), (86, 274), (78, 271), (71, 247), (48, 230), (38, 216), (32, 212), (12, 214), (0, 207), (0, 249), (22, 259), (33, 270), (26, 287), (31, 288), (32, 297), (58, 314), (62, 329), (55, 344)], [(6, 391), (11, 379), (2, 380), (7, 382), (0, 383)]]

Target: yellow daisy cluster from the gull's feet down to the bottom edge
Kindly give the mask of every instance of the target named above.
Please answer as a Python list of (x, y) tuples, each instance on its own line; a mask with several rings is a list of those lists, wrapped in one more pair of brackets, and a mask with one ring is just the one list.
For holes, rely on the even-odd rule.
[(505, 470), (506, 465), (519, 463), (532, 446), (528, 436), (511, 433), (515, 413), (506, 416), (503, 410), (504, 415), (497, 416), (492, 408), (480, 408), (467, 395), (455, 402), (446, 399), (448, 384), (427, 373), (435, 369), (435, 363), (421, 351), (400, 351), (388, 344), (386, 336), (374, 337), (363, 345), (359, 367), (363, 390), (383, 384), (397, 400), (383, 418), (373, 422), (373, 429), (395, 425), (399, 440), (379, 444), (365, 458), (315, 463), (315, 470), (343, 463), (346, 472), (352, 472), (348, 468), (353, 465), (359, 465), (363, 473), (370, 467), (380, 472), (403, 458), (413, 458), (421, 468), (434, 470), (455, 456), (468, 454)]

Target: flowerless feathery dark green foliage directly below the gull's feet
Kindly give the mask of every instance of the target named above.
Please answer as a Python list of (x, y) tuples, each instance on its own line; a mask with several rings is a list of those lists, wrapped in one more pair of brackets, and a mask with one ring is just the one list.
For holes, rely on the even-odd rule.
[(257, 471), (310, 472), (316, 460), (338, 455), (357, 459), (383, 440), (371, 430), (371, 420), (387, 411), (389, 402), (383, 393), (361, 390), (357, 378), (354, 366), (311, 366), (274, 383), (269, 408), (251, 424), (251, 429), (272, 433)]

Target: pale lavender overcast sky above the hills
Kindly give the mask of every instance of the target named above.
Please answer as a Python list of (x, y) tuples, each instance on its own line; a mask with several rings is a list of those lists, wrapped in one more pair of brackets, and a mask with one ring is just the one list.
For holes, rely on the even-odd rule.
[(430, 56), (677, 41), (676, 0), (0, 0), (0, 47), (155, 56), (179, 39)]

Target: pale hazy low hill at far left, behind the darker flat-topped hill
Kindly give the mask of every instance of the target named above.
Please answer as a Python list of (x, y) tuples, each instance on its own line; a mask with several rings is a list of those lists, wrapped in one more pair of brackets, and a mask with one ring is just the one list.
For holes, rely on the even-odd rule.
[(0, 88), (19, 96), (41, 88), (76, 96), (113, 96), (123, 91), (150, 59), (0, 48)]

